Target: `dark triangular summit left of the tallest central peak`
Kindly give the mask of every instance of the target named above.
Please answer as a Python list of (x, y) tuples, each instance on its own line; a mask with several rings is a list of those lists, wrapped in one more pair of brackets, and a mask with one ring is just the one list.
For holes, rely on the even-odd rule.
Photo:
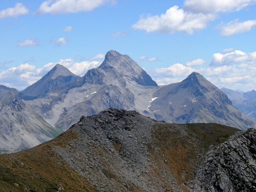
[(75, 83), (76, 80), (80, 78), (80, 76), (76, 76), (66, 67), (56, 64), (52, 70), (50, 70), (40, 80), (20, 92), (26, 96), (32, 96), (35, 98), (43, 95), (45, 96), (53, 90), (59, 93), (60, 90), (63, 92), (66, 89), (69, 89), (70, 86), (72, 86), (72, 83)]

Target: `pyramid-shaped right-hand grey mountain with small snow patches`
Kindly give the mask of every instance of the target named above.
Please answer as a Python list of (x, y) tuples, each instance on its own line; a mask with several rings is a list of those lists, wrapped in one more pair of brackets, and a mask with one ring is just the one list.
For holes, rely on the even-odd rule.
[(243, 130), (255, 127), (254, 120), (234, 108), (226, 94), (199, 73), (190, 74), (180, 83), (162, 86), (153, 96), (158, 98), (149, 109), (157, 120), (215, 122)]

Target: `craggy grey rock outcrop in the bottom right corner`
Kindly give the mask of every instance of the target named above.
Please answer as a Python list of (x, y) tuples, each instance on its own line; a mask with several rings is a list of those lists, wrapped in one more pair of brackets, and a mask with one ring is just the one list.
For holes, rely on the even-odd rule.
[(237, 132), (212, 148), (200, 167), (191, 191), (256, 191), (256, 130)]

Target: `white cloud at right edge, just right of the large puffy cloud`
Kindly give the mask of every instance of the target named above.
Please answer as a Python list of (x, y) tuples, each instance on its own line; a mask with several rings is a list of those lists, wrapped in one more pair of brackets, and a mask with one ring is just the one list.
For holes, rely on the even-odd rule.
[(221, 23), (217, 26), (218, 29), (221, 29), (220, 34), (222, 36), (231, 36), (234, 34), (244, 33), (248, 32), (256, 25), (256, 19), (255, 20), (248, 20), (242, 23), (239, 23), (239, 20), (233, 20), (230, 23)]

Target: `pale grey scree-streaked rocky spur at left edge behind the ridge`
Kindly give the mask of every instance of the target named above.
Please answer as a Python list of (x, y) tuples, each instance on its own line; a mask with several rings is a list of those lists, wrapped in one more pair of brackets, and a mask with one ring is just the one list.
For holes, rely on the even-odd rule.
[(0, 116), (0, 153), (28, 149), (61, 133), (20, 98), (2, 106)]

